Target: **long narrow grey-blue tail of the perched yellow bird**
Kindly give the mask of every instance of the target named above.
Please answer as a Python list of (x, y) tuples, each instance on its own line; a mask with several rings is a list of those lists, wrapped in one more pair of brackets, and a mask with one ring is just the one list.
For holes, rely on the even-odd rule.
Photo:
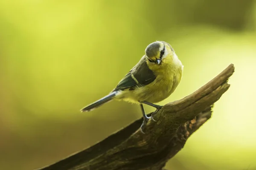
[(85, 106), (80, 111), (81, 112), (88, 112), (92, 111), (95, 108), (98, 108), (100, 105), (103, 105), (106, 102), (110, 102), (114, 96), (116, 96), (117, 91), (113, 91), (111, 94), (108, 94), (105, 97), (102, 97), (101, 99), (97, 100), (96, 102), (91, 103), (90, 105)]

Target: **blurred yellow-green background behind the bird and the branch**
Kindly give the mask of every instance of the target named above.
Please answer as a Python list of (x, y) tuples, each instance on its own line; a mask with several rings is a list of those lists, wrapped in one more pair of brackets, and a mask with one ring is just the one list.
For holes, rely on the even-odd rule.
[(1, 0), (0, 170), (51, 164), (139, 119), (126, 102), (79, 109), (108, 94), (156, 40), (184, 65), (160, 105), (236, 67), (212, 118), (166, 168), (256, 170), (255, 0)]

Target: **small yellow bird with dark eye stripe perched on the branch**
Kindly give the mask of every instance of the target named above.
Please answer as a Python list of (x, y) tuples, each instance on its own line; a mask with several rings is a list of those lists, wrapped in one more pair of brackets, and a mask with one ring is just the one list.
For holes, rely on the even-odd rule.
[(172, 46), (164, 41), (152, 42), (146, 47), (145, 55), (110, 94), (82, 108), (81, 112), (92, 111), (113, 99), (136, 103), (143, 113), (143, 132), (145, 124), (151, 118), (145, 114), (143, 104), (161, 109), (162, 106), (154, 103), (166, 99), (175, 91), (182, 73), (183, 65)]

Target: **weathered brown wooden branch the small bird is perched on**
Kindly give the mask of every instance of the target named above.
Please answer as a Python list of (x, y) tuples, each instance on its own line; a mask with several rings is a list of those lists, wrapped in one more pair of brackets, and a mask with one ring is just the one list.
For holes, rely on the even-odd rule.
[(230, 87), (227, 81), (233, 72), (231, 64), (193, 94), (152, 113), (157, 122), (149, 120), (145, 134), (139, 130), (143, 121), (139, 119), (92, 147), (38, 170), (162, 170), (211, 117), (212, 105)]

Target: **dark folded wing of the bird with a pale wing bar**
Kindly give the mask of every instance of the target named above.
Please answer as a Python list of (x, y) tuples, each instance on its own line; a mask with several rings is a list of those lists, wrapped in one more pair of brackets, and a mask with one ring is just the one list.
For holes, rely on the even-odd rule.
[(148, 68), (146, 58), (143, 56), (140, 59), (140, 62), (138, 62), (137, 65), (135, 65), (134, 68), (121, 79), (113, 91), (125, 90), (128, 88), (129, 90), (134, 90), (135, 87), (148, 85), (153, 82), (155, 78), (156, 76), (153, 71)]

